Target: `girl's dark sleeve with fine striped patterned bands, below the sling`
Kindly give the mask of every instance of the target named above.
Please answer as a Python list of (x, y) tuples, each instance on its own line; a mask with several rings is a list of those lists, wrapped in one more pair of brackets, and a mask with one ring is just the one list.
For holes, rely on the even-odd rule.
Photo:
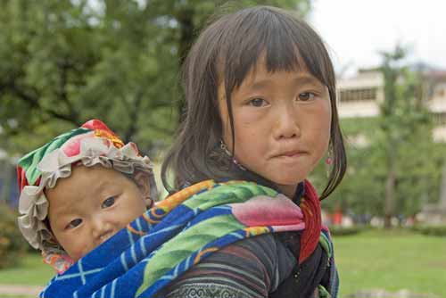
[(255, 236), (212, 253), (156, 297), (196, 298), (200, 293), (200, 298), (265, 298), (292, 274), (296, 264), (277, 234)]

